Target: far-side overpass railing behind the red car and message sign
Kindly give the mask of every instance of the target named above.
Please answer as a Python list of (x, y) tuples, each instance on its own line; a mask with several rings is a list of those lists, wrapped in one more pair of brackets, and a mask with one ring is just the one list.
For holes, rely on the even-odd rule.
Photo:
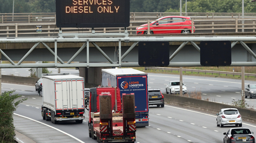
[[(163, 16), (180, 15), (179, 12), (130, 12), (130, 21), (134, 20), (156, 20)], [(242, 18), (241, 13), (211, 13), (211, 12), (187, 12), (182, 16), (192, 19), (220, 19), (220, 18)], [(256, 13), (244, 13), (244, 18), (255, 18)], [(2, 13), (0, 24), (7, 23), (48, 23), (56, 22), (55, 13)]]

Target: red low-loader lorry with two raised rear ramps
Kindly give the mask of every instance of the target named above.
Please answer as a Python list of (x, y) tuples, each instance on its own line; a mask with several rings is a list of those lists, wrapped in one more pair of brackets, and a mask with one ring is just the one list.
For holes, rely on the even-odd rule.
[(89, 137), (98, 143), (136, 141), (134, 93), (123, 94), (117, 87), (90, 88)]

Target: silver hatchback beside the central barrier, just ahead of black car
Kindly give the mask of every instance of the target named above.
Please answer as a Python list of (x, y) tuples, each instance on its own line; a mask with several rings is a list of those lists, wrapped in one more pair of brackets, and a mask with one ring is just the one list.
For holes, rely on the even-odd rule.
[(221, 109), (216, 115), (217, 126), (223, 127), (224, 125), (236, 125), (242, 126), (242, 117), (236, 108), (224, 108)]

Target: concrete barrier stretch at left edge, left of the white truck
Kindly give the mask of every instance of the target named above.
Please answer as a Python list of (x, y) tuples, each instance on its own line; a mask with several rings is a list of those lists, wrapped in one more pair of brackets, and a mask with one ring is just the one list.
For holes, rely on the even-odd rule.
[(2, 75), (2, 82), (9, 83), (9, 84), (22, 84), (22, 85), (35, 86), (35, 83), (36, 81), (38, 81), (38, 79), (40, 78)]

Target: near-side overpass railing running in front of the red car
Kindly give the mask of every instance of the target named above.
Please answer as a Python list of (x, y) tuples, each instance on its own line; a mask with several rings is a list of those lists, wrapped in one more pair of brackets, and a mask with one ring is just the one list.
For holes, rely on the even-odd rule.
[[(130, 21), (130, 26), (127, 28), (128, 33), (136, 35), (137, 27), (140, 25), (153, 22), (154, 20), (133, 20)], [(228, 32), (255, 32), (256, 17), (255, 18), (226, 18), (226, 19), (192, 19), (191, 27), (195, 26), (195, 33), (228, 33)], [(147, 26), (148, 28), (155, 27)], [(175, 25), (184, 26), (184, 25)], [(190, 26), (190, 25), (189, 25)], [(40, 27), (40, 28), (38, 28)], [(171, 26), (172, 27), (172, 26)], [(122, 33), (124, 28), (94, 28), (96, 33)], [(168, 28), (168, 31), (177, 30), (175, 28)], [(179, 29), (184, 30), (184, 29)], [(189, 30), (192, 30), (190, 28)], [(147, 31), (147, 30), (139, 30)], [(91, 28), (62, 28), (63, 33), (91, 33)], [(192, 30), (193, 32), (193, 30)], [(180, 34), (180, 33), (177, 33)], [(31, 37), (31, 36), (58, 36), (58, 28), (55, 22), (51, 23), (9, 23), (0, 24), (0, 37)]]

